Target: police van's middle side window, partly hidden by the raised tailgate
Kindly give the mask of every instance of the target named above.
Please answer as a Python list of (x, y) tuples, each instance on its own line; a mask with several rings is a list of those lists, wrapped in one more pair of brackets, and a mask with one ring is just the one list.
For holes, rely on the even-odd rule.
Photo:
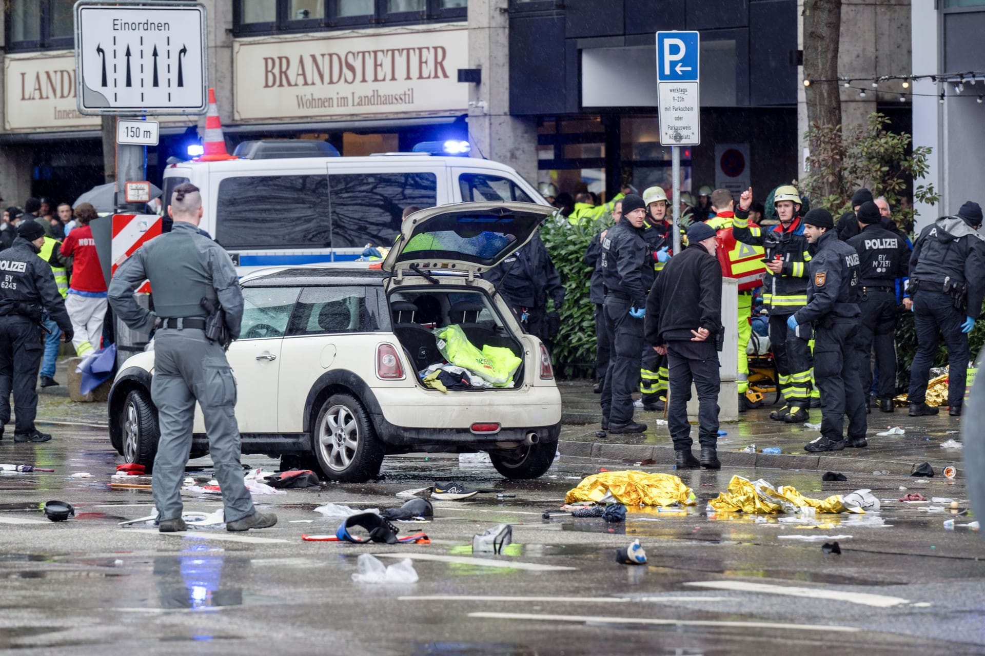
[(331, 173), (332, 247), (393, 246), (405, 208), (437, 205), (433, 173)]

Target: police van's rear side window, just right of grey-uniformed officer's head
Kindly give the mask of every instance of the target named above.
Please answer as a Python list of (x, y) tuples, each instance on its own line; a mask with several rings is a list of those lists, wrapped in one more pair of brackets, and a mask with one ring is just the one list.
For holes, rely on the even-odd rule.
[(264, 175), (219, 183), (216, 241), (228, 249), (332, 245), (325, 175)]

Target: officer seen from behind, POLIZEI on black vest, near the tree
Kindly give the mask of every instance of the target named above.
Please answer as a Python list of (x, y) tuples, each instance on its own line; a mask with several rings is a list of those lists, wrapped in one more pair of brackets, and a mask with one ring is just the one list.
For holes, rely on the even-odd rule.
[(875, 203), (863, 203), (857, 216), (862, 232), (845, 243), (859, 254), (859, 309), (862, 312), (859, 376), (868, 407), (868, 392), (872, 388), (870, 353), (875, 340), (876, 366), (879, 367), (879, 409), (892, 412), (892, 397), (896, 395), (894, 340), (899, 318), (896, 279), (906, 277), (910, 250), (905, 241), (883, 227), (879, 207)]

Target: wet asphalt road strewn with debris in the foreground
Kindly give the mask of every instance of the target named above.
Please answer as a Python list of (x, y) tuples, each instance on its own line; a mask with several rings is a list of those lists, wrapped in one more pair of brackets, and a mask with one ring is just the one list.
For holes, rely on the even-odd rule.
[[(980, 534), (945, 530), (949, 517), (968, 521), (950, 508), (925, 509), (948, 504), (894, 501), (904, 494), (900, 486), (962, 500), (961, 479), (848, 474), (846, 483), (821, 483), (814, 471), (681, 472), (696, 506), (632, 512), (624, 524), (607, 525), (541, 515), (600, 465), (620, 469), (622, 463), (565, 457), (544, 478), (514, 483), (457, 458), (391, 457), (379, 481), (256, 497), (280, 522), (236, 534), (260, 539), (243, 542), (221, 539), (230, 535), (225, 530), (168, 536), (118, 527), (153, 511), (150, 492), (107, 488), (121, 459), (104, 431), (48, 428), (55, 440), (46, 445), (0, 442), (0, 462), (56, 469), (0, 476), (4, 653), (985, 653)], [(243, 460), (268, 469), (277, 464), (262, 456)], [(68, 477), (82, 471), (94, 478)], [(210, 476), (208, 469), (190, 474), (199, 482)], [(819, 515), (819, 528), (777, 517), (709, 515), (706, 501), (733, 474), (815, 497), (870, 487), (892, 501), (878, 516)], [(338, 526), (314, 512), (316, 506), (399, 506), (397, 492), (435, 479), (514, 496), (435, 501), (433, 521), (401, 525), (405, 532), (426, 531), (429, 545), (300, 539)], [(76, 518), (44, 520), (36, 507), (50, 499), (75, 505)], [(201, 495), (185, 499), (186, 510), (220, 507)], [(33, 521), (10, 523), (24, 520)], [(482, 558), (510, 567), (461, 560), (472, 557), (472, 536), (499, 522), (513, 525), (514, 545), (506, 556)], [(851, 537), (838, 540), (837, 556), (822, 553), (823, 540), (781, 538), (789, 535)], [(635, 537), (647, 566), (617, 564), (616, 549)], [(415, 561), (415, 584), (366, 585), (352, 580), (363, 553), (451, 560)]]

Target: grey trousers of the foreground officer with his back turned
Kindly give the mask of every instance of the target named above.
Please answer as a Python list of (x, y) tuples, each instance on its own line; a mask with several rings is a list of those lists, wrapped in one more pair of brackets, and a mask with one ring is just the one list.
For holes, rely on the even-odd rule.
[(210, 342), (197, 328), (158, 330), (151, 396), (158, 406), (161, 426), (152, 481), (160, 518), (181, 516), (179, 490), (191, 450), (196, 399), (202, 406), (209, 452), (223, 491), (226, 521), (253, 514), (253, 500), (239, 463), (236, 385), (222, 346)]

